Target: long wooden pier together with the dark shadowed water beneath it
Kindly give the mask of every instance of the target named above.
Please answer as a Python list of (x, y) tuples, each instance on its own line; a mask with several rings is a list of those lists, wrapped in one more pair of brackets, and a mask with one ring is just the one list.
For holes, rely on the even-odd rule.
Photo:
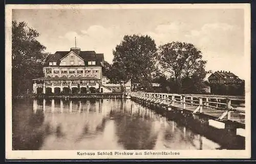
[(245, 97), (130, 92), (131, 98), (181, 121), (228, 149), (245, 146)]

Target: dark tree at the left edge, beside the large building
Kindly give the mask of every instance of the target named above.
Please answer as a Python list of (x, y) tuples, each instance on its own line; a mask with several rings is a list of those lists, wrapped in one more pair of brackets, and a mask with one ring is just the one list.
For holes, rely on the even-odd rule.
[(42, 67), (48, 53), (37, 40), (37, 31), (27, 23), (12, 21), (12, 94), (32, 90), (32, 79), (43, 75)]

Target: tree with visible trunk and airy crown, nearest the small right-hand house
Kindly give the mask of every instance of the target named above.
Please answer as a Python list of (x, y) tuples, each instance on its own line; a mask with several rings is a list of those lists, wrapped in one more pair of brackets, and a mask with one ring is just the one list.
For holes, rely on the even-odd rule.
[[(158, 60), (161, 69), (174, 77), (176, 92), (186, 92), (182, 90), (184, 78), (186, 82), (193, 79), (190, 83), (201, 86), (206, 73), (209, 73), (205, 70), (207, 61), (202, 60), (201, 51), (190, 43), (172, 42), (160, 45)], [(199, 85), (199, 82), (202, 84)]]

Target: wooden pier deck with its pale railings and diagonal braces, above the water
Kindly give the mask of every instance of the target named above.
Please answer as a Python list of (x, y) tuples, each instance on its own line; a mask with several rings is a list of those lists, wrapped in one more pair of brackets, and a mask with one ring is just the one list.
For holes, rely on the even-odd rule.
[(169, 93), (148, 93), (148, 92), (130, 92), (131, 97), (145, 100), (147, 102), (158, 103), (167, 107), (180, 106), (181, 110), (186, 110), (187, 106), (196, 106), (193, 113), (204, 113), (205, 109), (223, 111), (218, 117), (222, 120), (227, 117), (230, 120), (231, 112), (245, 115), (245, 97), (244, 96), (224, 96), (224, 95), (199, 95), (199, 94), (169, 94)]

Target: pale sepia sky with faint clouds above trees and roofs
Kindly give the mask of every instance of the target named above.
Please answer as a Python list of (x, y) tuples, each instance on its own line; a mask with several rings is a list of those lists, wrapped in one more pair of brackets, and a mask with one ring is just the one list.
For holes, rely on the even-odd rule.
[(245, 78), (243, 9), (15, 9), (12, 20), (27, 22), (50, 53), (69, 51), (76, 37), (81, 50), (104, 53), (112, 63), (124, 35), (150, 35), (157, 46), (192, 43), (202, 51), (207, 70)]

